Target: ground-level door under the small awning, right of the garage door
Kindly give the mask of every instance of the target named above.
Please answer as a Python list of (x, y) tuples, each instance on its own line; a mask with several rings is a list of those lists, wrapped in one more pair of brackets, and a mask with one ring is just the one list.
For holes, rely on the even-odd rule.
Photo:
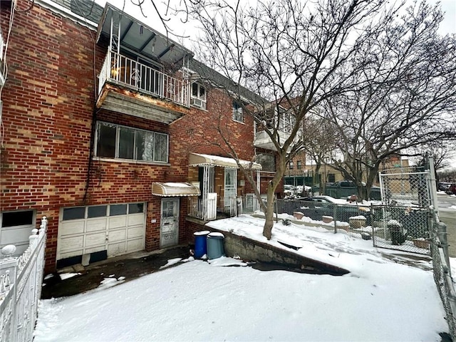
[(177, 242), (179, 242), (179, 199), (162, 199), (160, 248), (174, 246)]

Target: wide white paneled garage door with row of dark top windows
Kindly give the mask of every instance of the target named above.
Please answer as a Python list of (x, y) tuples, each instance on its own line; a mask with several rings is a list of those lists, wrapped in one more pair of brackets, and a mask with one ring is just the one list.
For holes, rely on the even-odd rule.
[(62, 208), (57, 260), (107, 251), (108, 257), (144, 249), (145, 204)]

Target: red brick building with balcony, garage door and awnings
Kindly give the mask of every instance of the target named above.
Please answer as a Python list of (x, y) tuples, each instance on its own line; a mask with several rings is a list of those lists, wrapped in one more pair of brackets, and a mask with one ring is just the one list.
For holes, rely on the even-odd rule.
[(255, 143), (232, 93), (264, 99), (112, 5), (6, 2), (0, 245), (24, 237), (25, 248), (46, 215), (50, 272), (190, 242), (207, 220), (235, 214), (237, 197), (255, 209), (219, 130), (266, 192), (274, 150)]

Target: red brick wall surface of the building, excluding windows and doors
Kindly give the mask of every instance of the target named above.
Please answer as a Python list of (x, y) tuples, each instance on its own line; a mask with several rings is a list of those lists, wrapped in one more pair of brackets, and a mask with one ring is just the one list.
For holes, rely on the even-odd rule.
[[(29, 1), (18, 4), (24, 10)], [(2, 7), (0, 23), (6, 37), (9, 9)], [(48, 216), (46, 271), (55, 268), (61, 207), (147, 202), (145, 249), (158, 249), (161, 198), (151, 195), (152, 182), (187, 181), (189, 152), (228, 157), (220, 133), (240, 158), (250, 160), (254, 154), (252, 118), (234, 122), (232, 100), (220, 90), (208, 93), (208, 110), (192, 108), (170, 125), (103, 110), (93, 113), (95, 76), (106, 53), (93, 38), (94, 31), (38, 4), (16, 11), (11, 31), (9, 73), (1, 93), (0, 210), (35, 209), (37, 225)], [(169, 133), (170, 166), (93, 160), (88, 172), (94, 118)], [(246, 182), (246, 192), (249, 187)], [(187, 198), (180, 199), (180, 208), (183, 243), (190, 229)]]

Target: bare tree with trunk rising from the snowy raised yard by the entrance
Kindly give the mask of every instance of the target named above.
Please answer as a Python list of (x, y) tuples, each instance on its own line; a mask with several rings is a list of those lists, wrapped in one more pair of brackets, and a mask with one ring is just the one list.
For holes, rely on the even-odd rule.
[[(361, 86), (355, 76), (367, 61), (359, 51), (367, 49), (377, 36), (375, 30), (385, 25), (385, 19), (392, 20), (397, 10), (387, 10), (386, 4), (383, 0), (315, 4), (287, 0), (250, 6), (242, 1), (207, 0), (193, 8), (204, 31), (199, 58), (270, 100), (269, 105), (243, 108), (276, 150), (276, 174), (263, 208), (266, 238), (271, 238), (274, 224), (276, 187), (286, 163), (303, 147), (302, 121), (323, 101)], [(241, 94), (234, 95), (242, 103)], [(281, 134), (284, 115), (293, 118), (286, 135)]]

